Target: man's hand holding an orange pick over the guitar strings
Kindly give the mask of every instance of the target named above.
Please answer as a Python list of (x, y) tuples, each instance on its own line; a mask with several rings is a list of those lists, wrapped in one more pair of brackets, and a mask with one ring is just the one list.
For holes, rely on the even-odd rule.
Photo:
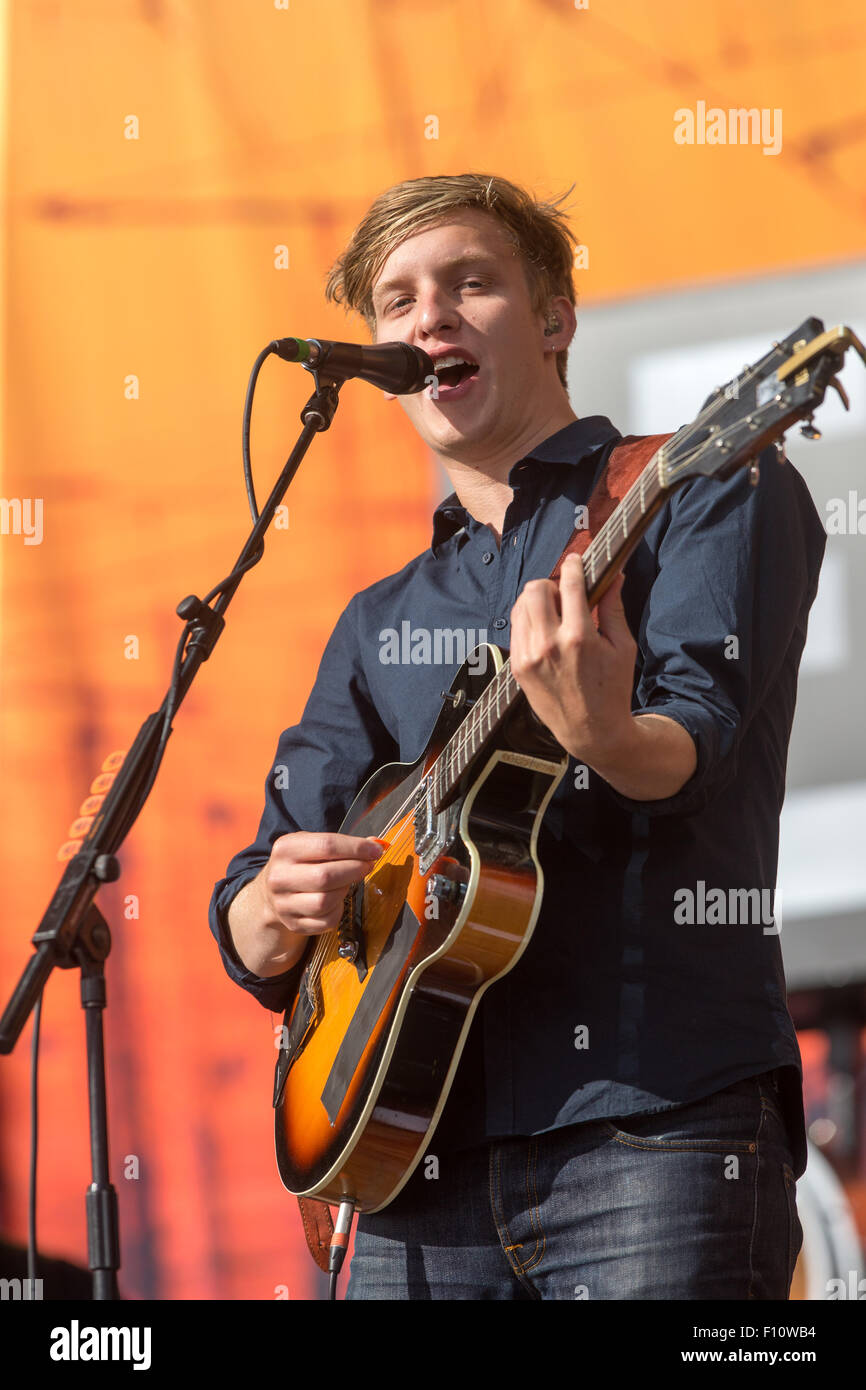
[(303, 955), (307, 937), (339, 926), (343, 898), (382, 853), (375, 840), (297, 830), (274, 841), (257, 878), (228, 908), (240, 962), (270, 979)]

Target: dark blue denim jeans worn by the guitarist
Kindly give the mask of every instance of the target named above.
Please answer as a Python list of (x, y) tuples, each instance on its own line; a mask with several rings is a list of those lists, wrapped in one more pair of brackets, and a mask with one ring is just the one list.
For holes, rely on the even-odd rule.
[(435, 1168), (359, 1216), (346, 1298), (788, 1297), (802, 1229), (771, 1073)]

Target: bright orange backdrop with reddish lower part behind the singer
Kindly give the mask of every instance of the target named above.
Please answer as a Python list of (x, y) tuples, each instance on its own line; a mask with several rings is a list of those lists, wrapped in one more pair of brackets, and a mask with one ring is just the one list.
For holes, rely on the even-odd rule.
[[(866, 18), (859, 0), (831, 21), (806, 0), (6, 0), (0, 15), (0, 485), (43, 499), (42, 543), (0, 537), (6, 998), (92, 777), (160, 703), (177, 602), (246, 535), (253, 357), (275, 335), (364, 338), (321, 291), (368, 202), (471, 168), (542, 193), (574, 182), (582, 303), (862, 256)], [(674, 111), (698, 100), (780, 108), (781, 153), (677, 145)], [(264, 371), (260, 502), (310, 385)], [(271, 1017), (224, 976), (206, 908), (332, 623), (427, 543), (435, 491), (399, 407), (348, 386), (99, 895), (126, 1297), (320, 1287), (272, 1158)], [(19, 1240), (26, 1037), (0, 1065), (3, 1229)], [(39, 1229), (81, 1261), (83, 1068), (78, 979), (57, 973)]]

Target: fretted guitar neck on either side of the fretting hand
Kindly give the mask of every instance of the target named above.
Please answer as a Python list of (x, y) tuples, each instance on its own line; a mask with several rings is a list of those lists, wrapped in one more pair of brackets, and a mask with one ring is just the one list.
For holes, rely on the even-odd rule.
[[(671, 488), (662, 481), (666, 449), (667, 445), (663, 445), (662, 449), (656, 450), (623, 500), (599, 528), (598, 535), (592, 537), (582, 550), (589, 607), (595, 607), (610, 588), (653, 516), (671, 492)], [(581, 532), (577, 534), (564, 555), (571, 549), (580, 553), (580, 537)], [(556, 570), (553, 573), (556, 574)], [(435, 810), (441, 810), (450, 801), (470, 764), (492, 741), (505, 719), (523, 698), (512, 671), (512, 663), (506, 659), (428, 771)]]

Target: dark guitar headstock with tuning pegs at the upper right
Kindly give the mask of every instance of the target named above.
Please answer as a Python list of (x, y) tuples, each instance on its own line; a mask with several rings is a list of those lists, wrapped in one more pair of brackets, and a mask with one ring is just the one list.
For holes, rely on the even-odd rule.
[(824, 331), (820, 318), (806, 318), (769, 353), (703, 402), (701, 413), (659, 452), (659, 481), (673, 488), (689, 478), (730, 478), (752, 464), (762, 449), (781, 439), (795, 421), (809, 421), (803, 434), (820, 438), (812, 416), (833, 386), (848, 409), (837, 381), (848, 348), (866, 363), (866, 348), (841, 324)]

